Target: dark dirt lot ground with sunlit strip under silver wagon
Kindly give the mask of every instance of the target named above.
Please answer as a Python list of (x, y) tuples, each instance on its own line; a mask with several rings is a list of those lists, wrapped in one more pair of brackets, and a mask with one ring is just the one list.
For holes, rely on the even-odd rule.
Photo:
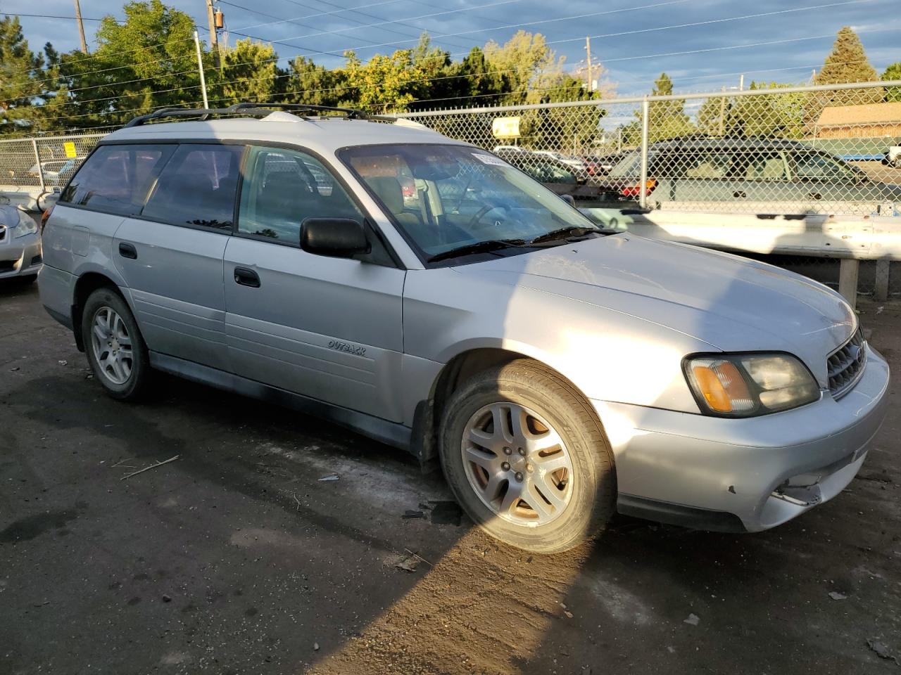
[(896, 392), (842, 495), (759, 535), (623, 519), (541, 557), (340, 428), (169, 378), (107, 399), (3, 284), (0, 673), (901, 672), (901, 308), (862, 319)]

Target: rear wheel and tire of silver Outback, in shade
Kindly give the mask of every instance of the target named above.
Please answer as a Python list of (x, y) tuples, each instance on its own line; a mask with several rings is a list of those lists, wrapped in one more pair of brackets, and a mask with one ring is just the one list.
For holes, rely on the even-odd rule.
[(81, 314), (87, 363), (107, 394), (135, 401), (147, 390), (150, 359), (132, 311), (111, 288), (91, 293)]

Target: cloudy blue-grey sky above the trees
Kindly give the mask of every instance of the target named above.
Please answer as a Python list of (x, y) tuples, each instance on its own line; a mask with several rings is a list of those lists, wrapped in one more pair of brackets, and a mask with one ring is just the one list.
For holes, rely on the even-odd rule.
[[(187, 12), (208, 38), (204, 0), (170, 0)], [(122, 2), (81, 0), (86, 19), (123, 17)], [(287, 59), (314, 58), (341, 65), (341, 53), (360, 58), (412, 47), (422, 31), (455, 60), (487, 40), (503, 43), (515, 31), (541, 32), (566, 67), (584, 64), (586, 36), (594, 63), (607, 69), (619, 95), (643, 94), (666, 71), (677, 92), (737, 87), (740, 77), (803, 84), (822, 67), (835, 33), (850, 25), (870, 63), (881, 73), (901, 61), (899, 0), (236, 0), (218, 3), (230, 43), (238, 32), (279, 40)], [(356, 8), (355, 11), (348, 11)], [(73, 0), (3, 0), (5, 14), (74, 16)], [(290, 19), (291, 21), (286, 21)], [(60, 51), (77, 49), (72, 19), (22, 17), (32, 49), (50, 41)], [(88, 49), (98, 23), (86, 21)]]

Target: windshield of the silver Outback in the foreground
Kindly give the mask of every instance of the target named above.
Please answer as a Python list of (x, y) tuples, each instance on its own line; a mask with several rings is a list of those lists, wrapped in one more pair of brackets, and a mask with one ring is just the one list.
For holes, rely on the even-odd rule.
[(340, 157), (427, 258), (481, 242), (528, 244), (551, 232), (598, 230), (542, 184), (478, 148), (360, 146)]

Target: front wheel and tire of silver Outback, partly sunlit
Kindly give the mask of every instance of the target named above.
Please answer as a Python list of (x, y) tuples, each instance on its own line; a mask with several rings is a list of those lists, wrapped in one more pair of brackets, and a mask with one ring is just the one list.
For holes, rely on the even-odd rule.
[(595, 411), (535, 361), (488, 369), (453, 392), (441, 419), (440, 455), (469, 518), (517, 548), (566, 551), (599, 534), (614, 515), (613, 452)]

